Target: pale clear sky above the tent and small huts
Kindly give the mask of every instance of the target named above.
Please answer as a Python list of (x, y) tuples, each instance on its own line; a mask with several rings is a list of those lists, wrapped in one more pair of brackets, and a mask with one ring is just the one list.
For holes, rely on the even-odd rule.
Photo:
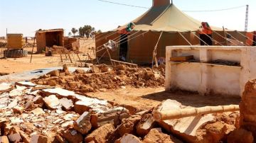
[[(150, 7), (151, 0), (107, 0)], [(243, 6), (229, 11), (186, 12), (199, 21), (228, 29), (244, 30), (245, 5), (249, 4), (249, 30), (256, 30), (256, 0), (174, 0), (181, 11), (215, 10)], [(0, 36), (23, 33), (33, 36), (39, 28), (71, 28), (92, 25), (96, 30), (112, 30), (134, 20), (146, 8), (108, 4), (97, 0), (0, 0)]]

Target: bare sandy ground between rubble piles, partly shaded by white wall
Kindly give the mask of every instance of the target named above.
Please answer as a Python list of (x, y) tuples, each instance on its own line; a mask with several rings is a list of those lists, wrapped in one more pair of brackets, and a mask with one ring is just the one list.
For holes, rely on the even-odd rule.
[(140, 110), (148, 110), (156, 107), (161, 101), (166, 99), (176, 100), (182, 105), (202, 107), (206, 105), (230, 105), (239, 104), (240, 97), (227, 96), (199, 96), (194, 93), (164, 91), (164, 87), (159, 88), (119, 88), (114, 91), (87, 93), (88, 96), (105, 99), (118, 103), (119, 105), (131, 105)]

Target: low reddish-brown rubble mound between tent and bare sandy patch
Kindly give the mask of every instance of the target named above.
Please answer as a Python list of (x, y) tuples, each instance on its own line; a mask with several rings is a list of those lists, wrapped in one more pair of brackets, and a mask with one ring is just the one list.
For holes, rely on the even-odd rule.
[[(110, 69), (105, 64), (92, 71), (77, 69), (70, 73), (67, 67), (63, 70), (51, 71), (48, 74), (40, 76), (38, 79), (32, 79), (35, 84), (60, 86), (70, 91), (80, 93), (102, 91), (102, 89), (133, 87), (154, 87), (164, 86), (163, 68), (129, 68), (119, 65)], [(89, 72), (89, 73), (88, 73)], [(90, 73), (92, 72), (92, 73)]]

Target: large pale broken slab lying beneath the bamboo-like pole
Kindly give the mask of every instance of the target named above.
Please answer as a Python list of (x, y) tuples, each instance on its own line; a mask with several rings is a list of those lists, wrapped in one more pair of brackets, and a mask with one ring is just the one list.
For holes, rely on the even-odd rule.
[[(168, 111), (185, 108), (181, 103), (173, 100), (166, 100), (159, 104), (157, 111)], [(186, 107), (189, 108), (189, 107)], [(174, 120), (160, 121), (159, 125), (165, 130), (182, 137), (186, 142), (196, 142), (198, 140), (197, 130), (200, 130), (207, 122), (215, 122), (216, 118), (212, 114), (191, 116)]]

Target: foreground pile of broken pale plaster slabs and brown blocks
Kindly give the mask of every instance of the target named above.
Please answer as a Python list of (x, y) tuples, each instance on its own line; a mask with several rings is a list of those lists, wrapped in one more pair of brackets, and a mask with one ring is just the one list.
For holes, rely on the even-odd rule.
[(156, 122), (155, 110), (191, 108), (166, 100), (139, 113), (63, 88), (0, 84), (1, 142), (226, 142), (239, 113)]

